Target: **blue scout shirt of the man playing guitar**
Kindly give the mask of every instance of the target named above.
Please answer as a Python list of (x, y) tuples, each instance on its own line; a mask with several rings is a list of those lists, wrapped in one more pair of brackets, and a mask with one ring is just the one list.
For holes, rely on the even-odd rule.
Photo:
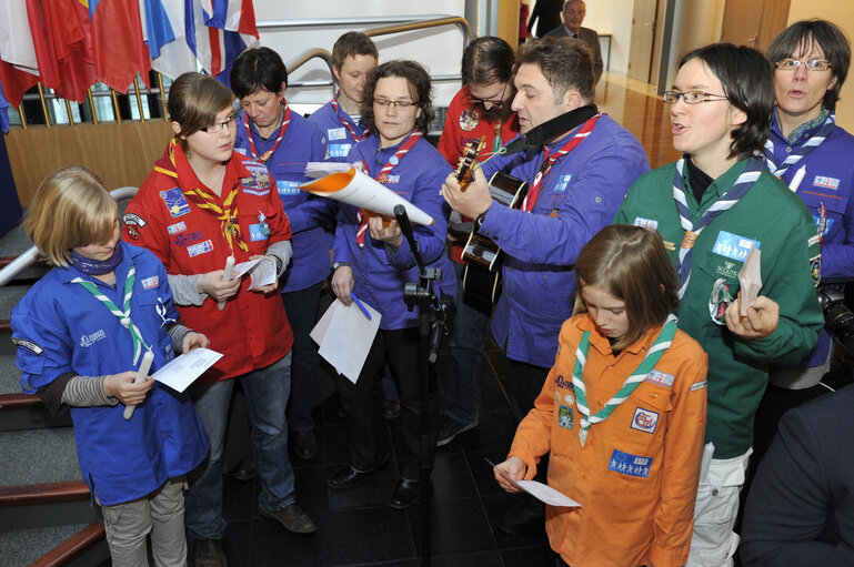
[[(566, 140), (550, 149), (557, 151)], [(530, 186), (543, 152), (532, 149), (493, 161), (483, 168), (486, 179), (502, 168)], [(611, 223), (632, 182), (649, 170), (641, 143), (602, 115), (590, 135), (552, 166), (531, 214), (492, 203), (480, 233), (504, 251), (504, 286), (492, 335), (506, 345), (510, 358), (552, 366), (561, 325), (572, 314), (575, 259)]]

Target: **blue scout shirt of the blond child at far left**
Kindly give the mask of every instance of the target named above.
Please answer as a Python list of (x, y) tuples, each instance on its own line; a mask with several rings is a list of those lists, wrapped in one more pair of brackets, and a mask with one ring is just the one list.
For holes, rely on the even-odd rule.
[[(54, 267), (12, 308), (21, 387), (31, 393), (62, 374), (119, 374), (133, 365), (133, 343), (118, 317), (76, 277), (93, 282), (122, 305), (131, 263), (137, 279), (131, 318), (154, 353), (149, 374), (174, 357), (165, 320), (177, 320), (163, 264), (151, 252), (121, 243), (124, 260), (115, 269), (113, 288), (73, 266)], [(162, 313), (162, 315), (161, 315)], [(140, 362), (142, 357), (140, 356)], [(208, 455), (208, 438), (190, 397), (155, 382), (133, 417), (124, 405), (72, 407), (80, 469), (102, 505), (151, 494), (167, 479), (192, 470)]]

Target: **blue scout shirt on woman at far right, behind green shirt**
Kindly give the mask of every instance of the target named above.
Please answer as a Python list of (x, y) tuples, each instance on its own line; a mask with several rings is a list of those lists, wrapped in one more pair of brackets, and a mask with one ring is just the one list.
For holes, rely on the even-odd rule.
[[(802, 148), (821, 129), (821, 124), (801, 133), (795, 143), (780, 130), (777, 113), (772, 113), (771, 138), (774, 141), (774, 163), (782, 164), (792, 151)], [(854, 136), (840, 126), (801, 161), (786, 169), (781, 178), (788, 183), (802, 165), (806, 174), (797, 189), (821, 234), (821, 282), (838, 283), (854, 280)], [(825, 213), (822, 215), (822, 205)], [(827, 358), (831, 337), (822, 331), (815, 348), (802, 366), (817, 366)]]

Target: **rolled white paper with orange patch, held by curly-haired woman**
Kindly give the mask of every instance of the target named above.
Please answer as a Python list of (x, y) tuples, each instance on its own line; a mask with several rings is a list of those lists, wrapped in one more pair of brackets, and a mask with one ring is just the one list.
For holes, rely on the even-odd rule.
[[(348, 169), (341, 171), (342, 165), (348, 165)], [(391, 217), (394, 216), (394, 206), (403, 205), (411, 222), (424, 226), (434, 222), (424, 211), (350, 164), (309, 162), (305, 164), (305, 174), (322, 175), (315, 181), (300, 185), (300, 189), (309, 193)], [(436, 188), (436, 191), (439, 189)]]

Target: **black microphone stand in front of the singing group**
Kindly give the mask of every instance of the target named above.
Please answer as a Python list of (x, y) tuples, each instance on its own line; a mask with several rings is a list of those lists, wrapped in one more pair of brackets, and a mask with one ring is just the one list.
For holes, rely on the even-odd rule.
[[(409, 311), (419, 307), (419, 397), (421, 401), (421, 558), (424, 567), (430, 566), (430, 470), (432, 464), (430, 455), (435, 450), (435, 439), (430, 435), (430, 368), (435, 362), (436, 352), (442, 334), (450, 332), (448, 325), (453, 320), (453, 300), (450, 297), (440, 301), (433, 290), (433, 282), (441, 280), (442, 271), (435, 267), (426, 267), (421, 259), (421, 245), (412, 232), (412, 224), (403, 205), (394, 207), (394, 216), (401, 227), (403, 236), (409, 242), (415, 264), (419, 269), (418, 283), (406, 282), (403, 287), (403, 301)], [(431, 315), (435, 314), (435, 323), (431, 334)], [(450, 317), (450, 318), (449, 318)], [(432, 344), (431, 344), (432, 343)], [(431, 443), (434, 445), (431, 447)]]

